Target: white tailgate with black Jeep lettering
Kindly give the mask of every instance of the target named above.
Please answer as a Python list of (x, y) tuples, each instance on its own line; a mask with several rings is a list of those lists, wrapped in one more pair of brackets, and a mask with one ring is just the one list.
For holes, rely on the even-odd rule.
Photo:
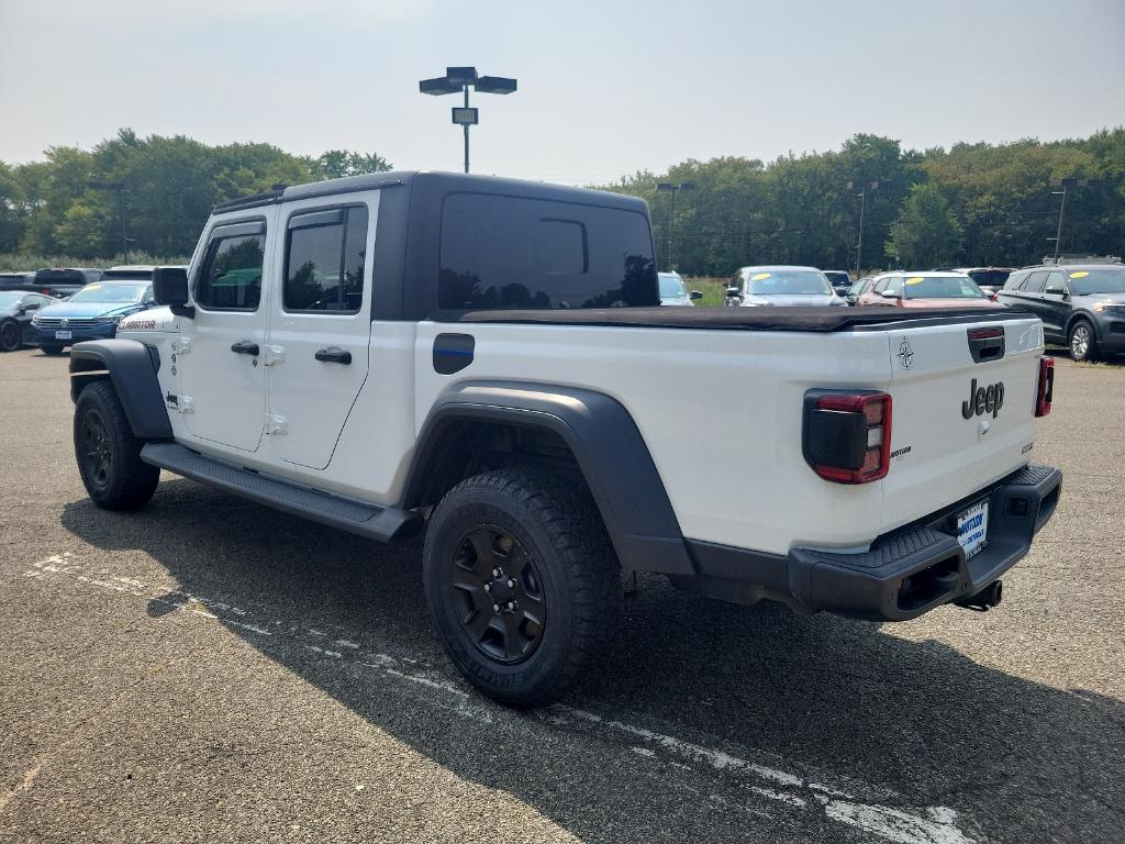
[(1030, 459), (1042, 351), (1042, 323), (1020, 314), (890, 333), (884, 530), (960, 501)]

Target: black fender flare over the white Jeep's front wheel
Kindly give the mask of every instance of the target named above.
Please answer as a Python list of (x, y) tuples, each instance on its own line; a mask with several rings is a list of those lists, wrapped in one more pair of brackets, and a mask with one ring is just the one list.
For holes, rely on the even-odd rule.
[(156, 378), (159, 358), (136, 340), (87, 340), (71, 348), (71, 399), (76, 402), (84, 381), (109, 374), (117, 397), (133, 429), (142, 440), (172, 438), (172, 425)]

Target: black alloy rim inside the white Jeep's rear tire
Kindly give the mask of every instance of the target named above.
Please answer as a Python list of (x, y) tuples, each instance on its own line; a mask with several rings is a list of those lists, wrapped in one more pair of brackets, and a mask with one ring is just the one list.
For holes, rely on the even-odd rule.
[(495, 524), (469, 530), (449, 565), (461, 629), (485, 656), (511, 665), (539, 647), (547, 623), (542, 580), (531, 555)]

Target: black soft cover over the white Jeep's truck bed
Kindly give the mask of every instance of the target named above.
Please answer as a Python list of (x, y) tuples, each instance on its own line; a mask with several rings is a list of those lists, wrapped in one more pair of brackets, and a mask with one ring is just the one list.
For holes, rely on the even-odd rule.
[(646, 329), (720, 331), (879, 331), (935, 321), (956, 324), (1000, 322), (1027, 316), (1019, 308), (898, 307), (614, 307), (570, 311), (435, 311), (439, 323), (524, 325), (622, 325)]

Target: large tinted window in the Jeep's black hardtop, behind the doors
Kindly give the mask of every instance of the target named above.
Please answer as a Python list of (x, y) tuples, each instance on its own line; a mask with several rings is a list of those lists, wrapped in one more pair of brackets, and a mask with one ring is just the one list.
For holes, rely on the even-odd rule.
[(659, 300), (642, 214), (479, 194), (446, 199), (441, 308), (626, 307)]

